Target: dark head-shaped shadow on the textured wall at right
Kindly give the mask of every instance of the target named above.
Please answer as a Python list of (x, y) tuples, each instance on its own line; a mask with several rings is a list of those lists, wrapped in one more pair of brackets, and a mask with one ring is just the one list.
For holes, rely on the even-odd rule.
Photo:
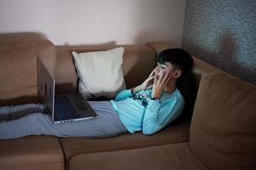
[(249, 70), (238, 60), (238, 54), (240, 53), (240, 46), (230, 32), (225, 32), (218, 43), (218, 47), (214, 50), (208, 51), (205, 48), (200, 48), (194, 44), (184, 42), (184, 49), (196, 57), (205, 60), (207, 63), (214, 65), (215, 67), (229, 72), (235, 77), (239, 77), (247, 82), (256, 84), (255, 72)]

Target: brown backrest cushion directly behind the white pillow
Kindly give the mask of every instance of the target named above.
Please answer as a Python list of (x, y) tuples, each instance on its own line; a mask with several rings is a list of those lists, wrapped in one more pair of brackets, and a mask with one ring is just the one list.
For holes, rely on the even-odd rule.
[[(116, 45), (102, 46), (57, 46), (57, 63), (55, 70), (56, 93), (70, 93), (78, 89), (78, 75), (75, 69), (72, 51), (91, 52), (110, 48)], [(125, 45), (123, 55), (123, 74), (126, 88), (142, 83), (156, 65), (156, 57), (151, 48), (140, 45)]]

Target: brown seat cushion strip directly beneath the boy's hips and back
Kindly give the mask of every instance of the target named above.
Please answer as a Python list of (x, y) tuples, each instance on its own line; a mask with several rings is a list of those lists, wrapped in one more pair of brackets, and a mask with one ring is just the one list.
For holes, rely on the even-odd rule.
[(142, 133), (125, 133), (107, 139), (61, 138), (67, 162), (72, 156), (82, 153), (128, 150), (160, 144), (175, 144), (189, 139), (190, 122), (170, 125), (151, 136)]

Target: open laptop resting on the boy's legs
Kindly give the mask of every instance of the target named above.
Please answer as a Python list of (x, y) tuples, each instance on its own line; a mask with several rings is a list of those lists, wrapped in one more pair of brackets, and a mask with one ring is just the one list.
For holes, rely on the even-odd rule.
[(38, 94), (44, 104), (44, 113), (55, 123), (81, 121), (96, 117), (81, 94), (55, 94), (55, 79), (39, 60)]

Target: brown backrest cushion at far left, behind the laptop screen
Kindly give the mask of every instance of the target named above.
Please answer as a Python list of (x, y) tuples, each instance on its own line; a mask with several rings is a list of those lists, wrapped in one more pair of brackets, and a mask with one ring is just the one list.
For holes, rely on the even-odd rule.
[(0, 41), (0, 105), (38, 101), (38, 57), (54, 74), (55, 47), (48, 40)]

